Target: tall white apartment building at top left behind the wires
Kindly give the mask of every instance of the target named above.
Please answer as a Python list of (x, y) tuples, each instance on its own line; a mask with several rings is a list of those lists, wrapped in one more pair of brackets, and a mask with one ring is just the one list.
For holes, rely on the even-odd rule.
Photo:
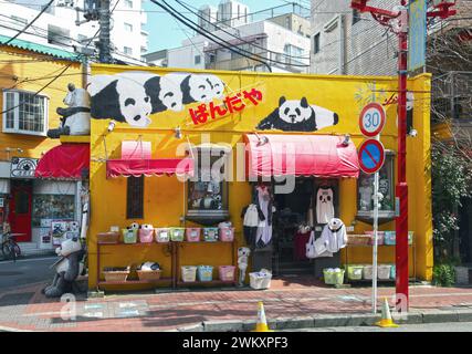
[[(111, 9), (117, 0), (111, 1)], [(148, 33), (144, 30), (147, 15), (143, 11), (144, 0), (120, 0), (112, 13), (112, 54), (123, 62), (141, 64), (141, 55), (148, 48)], [(2, 2), (0, 34), (13, 37), (30, 23), (48, 3), (48, 0), (10, 0)], [(74, 46), (85, 45), (98, 31), (98, 21), (76, 25), (76, 20), (85, 20), (84, 0), (55, 0), (53, 4), (19, 39), (39, 44), (54, 45), (74, 51)], [(95, 39), (93, 45), (98, 39)]]

